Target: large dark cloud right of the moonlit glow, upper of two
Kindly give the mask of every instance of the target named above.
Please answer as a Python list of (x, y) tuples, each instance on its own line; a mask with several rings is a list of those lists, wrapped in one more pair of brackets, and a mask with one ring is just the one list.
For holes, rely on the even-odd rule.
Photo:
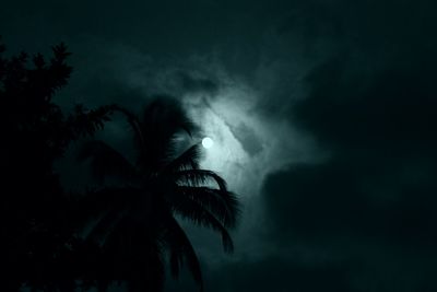
[[(412, 61), (412, 60), (410, 60)], [(330, 147), (432, 150), (437, 107), (435, 63), (393, 63), (366, 70), (334, 59), (308, 77), (309, 98), (293, 106), (292, 122)]]

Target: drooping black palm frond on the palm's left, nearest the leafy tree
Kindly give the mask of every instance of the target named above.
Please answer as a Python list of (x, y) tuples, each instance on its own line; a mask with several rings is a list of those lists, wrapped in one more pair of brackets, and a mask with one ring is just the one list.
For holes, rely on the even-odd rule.
[(86, 142), (78, 156), (83, 161), (91, 159), (92, 174), (102, 180), (107, 176), (132, 179), (137, 176), (135, 167), (117, 150), (99, 140)]

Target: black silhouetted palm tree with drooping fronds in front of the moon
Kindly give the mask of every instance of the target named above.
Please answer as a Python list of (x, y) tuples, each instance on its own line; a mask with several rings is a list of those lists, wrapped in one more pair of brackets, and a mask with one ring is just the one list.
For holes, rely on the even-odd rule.
[[(235, 227), (239, 203), (225, 180), (201, 170), (201, 148), (194, 143), (177, 153), (177, 137), (188, 137), (199, 128), (187, 117), (180, 104), (165, 96), (149, 104), (140, 117), (120, 106), (133, 129), (135, 163), (103, 141), (87, 143), (81, 159), (91, 159), (94, 175), (116, 177), (88, 197), (96, 221), (86, 238), (101, 249), (101, 289), (114, 280), (123, 281), (130, 291), (162, 291), (164, 261), (177, 277), (186, 264), (203, 290), (198, 256), (175, 215), (216, 231), (224, 250), (233, 252), (228, 229)], [(115, 182), (113, 179), (113, 182)]]

